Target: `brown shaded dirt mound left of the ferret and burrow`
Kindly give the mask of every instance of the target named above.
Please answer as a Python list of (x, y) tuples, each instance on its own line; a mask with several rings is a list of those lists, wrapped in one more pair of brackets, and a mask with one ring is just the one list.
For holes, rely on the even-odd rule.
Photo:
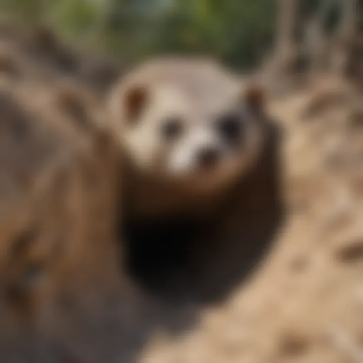
[(21, 349), (33, 334), (58, 335), (63, 301), (96, 309), (126, 285), (118, 154), (92, 99), (72, 83), (0, 78), (0, 360), (12, 339)]

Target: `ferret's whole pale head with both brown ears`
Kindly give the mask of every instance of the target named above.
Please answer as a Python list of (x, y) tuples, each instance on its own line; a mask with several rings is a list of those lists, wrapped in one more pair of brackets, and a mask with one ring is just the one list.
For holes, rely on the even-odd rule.
[(168, 66), (116, 93), (119, 140), (141, 173), (219, 188), (246, 172), (259, 149), (263, 93), (214, 66)]

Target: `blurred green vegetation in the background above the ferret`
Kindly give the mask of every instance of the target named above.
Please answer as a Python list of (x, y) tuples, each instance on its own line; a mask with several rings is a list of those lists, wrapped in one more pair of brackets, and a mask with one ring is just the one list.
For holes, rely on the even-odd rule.
[[(300, 14), (323, 2), (301, 1)], [(272, 46), (278, 0), (0, 0), (0, 12), (14, 22), (50, 25), (77, 48), (122, 64), (198, 52), (246, 69)]]

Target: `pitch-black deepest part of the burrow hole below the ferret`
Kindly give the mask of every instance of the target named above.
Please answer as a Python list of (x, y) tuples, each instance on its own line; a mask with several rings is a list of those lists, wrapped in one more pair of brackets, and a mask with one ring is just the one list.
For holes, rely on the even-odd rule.
[(186, 292), (193, 244), (204, 227), (183, 219), (126, 223), (122, 237), (127, 272), (151, 294), (171, 297)]

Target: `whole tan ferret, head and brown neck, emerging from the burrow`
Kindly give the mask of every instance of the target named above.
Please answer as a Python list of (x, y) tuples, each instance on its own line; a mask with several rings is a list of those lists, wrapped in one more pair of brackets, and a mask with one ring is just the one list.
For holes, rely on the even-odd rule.
[(263, 142), (263, 91), (205, 59), (163, 58), (112, 91), (128, 216), (205, 218)]

